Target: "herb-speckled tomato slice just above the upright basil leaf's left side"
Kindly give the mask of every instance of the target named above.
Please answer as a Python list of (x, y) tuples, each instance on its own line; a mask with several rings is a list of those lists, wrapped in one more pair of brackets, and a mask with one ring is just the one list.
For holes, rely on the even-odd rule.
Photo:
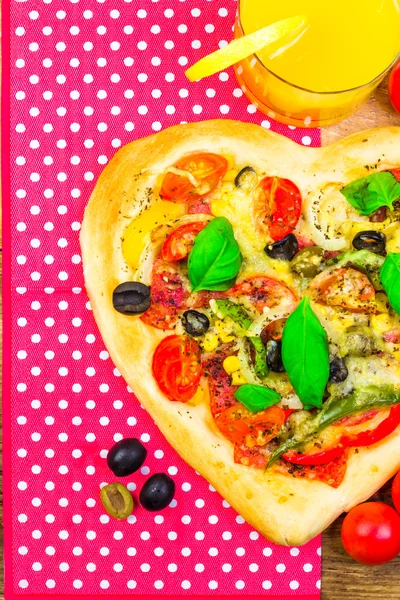
[(297, 298), (284, 283), (269, 277), (247, 277), (225, 292), (228, 297), (247, 296), (254, 307), (262, 312), (267, 306), (272, 308), (286, 302), (288, 310), (297, 304)]

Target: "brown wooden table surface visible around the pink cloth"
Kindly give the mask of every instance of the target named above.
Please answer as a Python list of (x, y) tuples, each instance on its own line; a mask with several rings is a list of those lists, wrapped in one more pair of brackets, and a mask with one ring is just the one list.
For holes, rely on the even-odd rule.
[[(400, 115), (394, 112), (388, 99), (387, 80), (379, 86), (368, 103), (358, 113), (337, 125), (323, 128), (321, 131), (322, 144), (329, 144), (362, 129), (386, 125), (400, 126)], [(386, 484), (374, 496), (374, 499), (390, 503), (390, 483)], [(0, 515), (1, 500), (0, 490)], [(400, 556), (391, 563), (380, 567), (366, 567), (354, 562), (344, 552), (341, 545), (340, 528), (342, 521), (343, 517), (337, 519), (323, 534), (322, 600), (400, 600)], [(2, 562), (2, 530), (0, 536), (0, 558)], [(4, 599), (3, 584), (4, 575), (1, 569), (0, 599)]]

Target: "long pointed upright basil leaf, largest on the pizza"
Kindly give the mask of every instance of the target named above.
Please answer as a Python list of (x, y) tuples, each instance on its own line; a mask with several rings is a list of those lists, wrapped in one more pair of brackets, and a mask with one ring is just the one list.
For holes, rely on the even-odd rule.
[(321, 408), (329, 378), (328, 337), (307, 296), (286, 321), (282, 361), (304, 408)]

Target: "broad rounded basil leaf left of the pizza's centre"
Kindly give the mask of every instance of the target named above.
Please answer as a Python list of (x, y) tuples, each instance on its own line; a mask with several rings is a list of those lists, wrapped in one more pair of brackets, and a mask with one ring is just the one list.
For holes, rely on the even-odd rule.
[(235, 284), (242, 264), (232, 225), (216, 217), (196, 236), (189, 254), (188, 271), (192, 292), (223, 292)]

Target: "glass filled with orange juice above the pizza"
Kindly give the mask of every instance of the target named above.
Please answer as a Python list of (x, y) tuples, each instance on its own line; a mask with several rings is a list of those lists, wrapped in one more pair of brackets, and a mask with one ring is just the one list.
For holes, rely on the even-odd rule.
[(302, 14), (283, 46), (235, 65), (251, 101), (299, 127), (330, 125), (368, 98), (400, 52), (400, 0), (239, 0), (235, 37)]

